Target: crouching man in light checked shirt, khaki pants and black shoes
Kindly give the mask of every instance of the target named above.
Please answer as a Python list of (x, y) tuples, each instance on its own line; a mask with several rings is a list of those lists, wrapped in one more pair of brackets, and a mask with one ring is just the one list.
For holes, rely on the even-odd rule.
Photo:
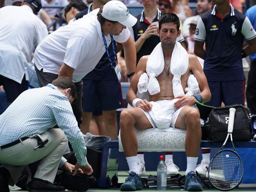
[[(9, 192), (9, 181), (15, 184), (24, 166), (40, 159), (30, 192), (64, 192), (63, 186), (52, 183), (68, 140), (76, 153), (74, 175), (79, 168), (92, 174), (85, 157), (85, 142), (70, 105), (75, 96), (72, 80), (60, 77), (45, 87), (22, 92), (0, 115), (0, 192)], [(52, 128), (56, 124), (59, 128)]]

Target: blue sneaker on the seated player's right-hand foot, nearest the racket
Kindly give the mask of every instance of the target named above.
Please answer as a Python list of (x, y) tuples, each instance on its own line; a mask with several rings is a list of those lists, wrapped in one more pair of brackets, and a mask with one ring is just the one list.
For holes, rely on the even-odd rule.
[(189, 172), (185, 177), (185, 190), (187, 191), (202, 191), (203, 187), (195, 172)]

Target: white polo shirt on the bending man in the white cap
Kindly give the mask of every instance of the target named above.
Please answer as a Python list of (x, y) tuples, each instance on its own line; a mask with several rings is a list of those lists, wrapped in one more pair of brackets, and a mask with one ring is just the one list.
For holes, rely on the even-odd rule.
[[(37, 46), (34, 54), (36, 67), (43, 72), (59, 74), (63, 63), (74, 68), (73, 81), (80, 81), (95, 68), (106, 52), (102, 38), (100, 22), (97, 20), (99, 9), (64, 26), (46, 37)], [(130, 31), (124, 29), (114, 40), (126, 42)], [(111, 43), (110, 35), (105, 36), (107, 44)]]

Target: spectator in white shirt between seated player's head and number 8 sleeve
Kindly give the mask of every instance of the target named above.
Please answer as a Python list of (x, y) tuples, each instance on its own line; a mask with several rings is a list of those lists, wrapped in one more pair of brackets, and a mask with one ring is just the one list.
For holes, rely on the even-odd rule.
[(183, 23), (182, 26), (182, 35), (184, 37), (189, 36), (189, 26), (192, 20), (198, 20), (199, 17), (206, 14), (208, 11), (212, 9), (212, 2), (211, 0), (197, 0), (197, 13), (198, 15), (188, 17)]

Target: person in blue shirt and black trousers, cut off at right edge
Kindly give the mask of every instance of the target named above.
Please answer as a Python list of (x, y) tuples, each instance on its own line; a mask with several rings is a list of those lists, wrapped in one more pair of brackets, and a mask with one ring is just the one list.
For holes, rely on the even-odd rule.
[[(252, 23), (254, 31), (256, 30), (256, 5), (250, 7), (245, 13)], [(248, 74), (247, 88), (246, 88), (246, 100), (247, 106), (252, 114), (256, 114), (256, 53), (250, 55), (250, 71)]]

